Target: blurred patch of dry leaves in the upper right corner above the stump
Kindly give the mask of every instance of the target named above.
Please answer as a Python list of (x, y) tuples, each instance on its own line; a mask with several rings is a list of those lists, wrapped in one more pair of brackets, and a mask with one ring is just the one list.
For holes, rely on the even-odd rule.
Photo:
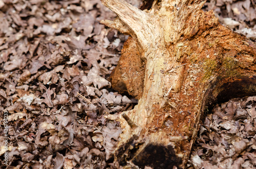
[(207, 0), (204, 10), (214, 10), (222, 25), (256, 41), (256, 4), (255, 1)]

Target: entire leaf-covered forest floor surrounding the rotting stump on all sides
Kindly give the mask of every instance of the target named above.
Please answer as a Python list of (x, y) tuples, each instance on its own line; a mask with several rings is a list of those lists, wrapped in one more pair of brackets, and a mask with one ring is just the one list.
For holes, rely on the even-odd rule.
[[(210, 9), (256, 40), (255, 1), (211, 0)], [(113, 163), (121, 128), (105, 115), (137, 100), (108, 81), (127, 36), (99, 20), (115, 16), (100, 0), (0, 0), (1, 168), (121, 168)], [(209, 112), (188, 167), (255, 167), (255, 103)]]

